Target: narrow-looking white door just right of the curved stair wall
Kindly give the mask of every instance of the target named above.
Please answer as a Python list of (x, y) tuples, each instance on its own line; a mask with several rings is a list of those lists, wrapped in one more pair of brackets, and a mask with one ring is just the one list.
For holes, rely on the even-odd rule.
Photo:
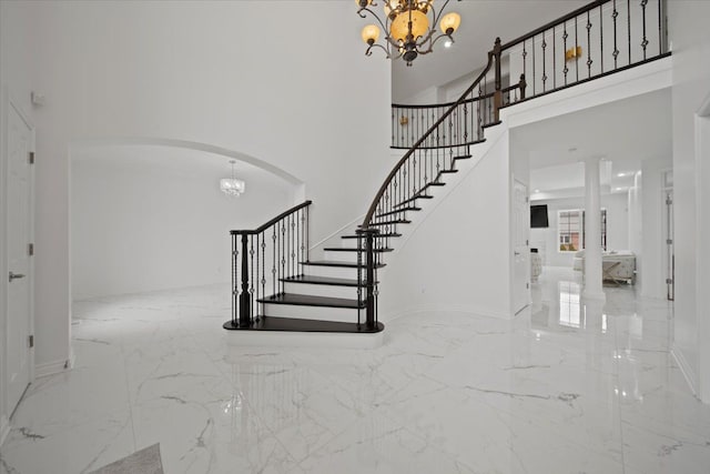
[(529, 228), (528, 189), (521, 182), (515, 181), (513, 186), (513, 310), (516, 313), (530, 302)]

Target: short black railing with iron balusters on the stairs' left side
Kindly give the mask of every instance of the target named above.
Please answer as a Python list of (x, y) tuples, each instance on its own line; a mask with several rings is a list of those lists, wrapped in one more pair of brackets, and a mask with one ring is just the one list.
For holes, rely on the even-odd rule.
[(284, 279), (302, 273), (301, 264), (308, 261), (311, 204), (312, 201), (305, 201), (294, 205), (253, 230), (230, 231), (232, 320), (225, 327), (253, 326), (258, 320), (254, 303), (267, 297), (267, 283), (271, 295), (280, 295), (284, 292)]

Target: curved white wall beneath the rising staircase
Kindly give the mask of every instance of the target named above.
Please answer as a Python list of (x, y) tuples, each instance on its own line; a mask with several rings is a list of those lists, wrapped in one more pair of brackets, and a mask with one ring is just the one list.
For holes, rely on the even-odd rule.
[(491, 148), (476, 168), (448, 195), (423, 203), (436, 209), (387, 255), (383, 317), (434, 309), (511, 316), (508, 132), (487, 135)]

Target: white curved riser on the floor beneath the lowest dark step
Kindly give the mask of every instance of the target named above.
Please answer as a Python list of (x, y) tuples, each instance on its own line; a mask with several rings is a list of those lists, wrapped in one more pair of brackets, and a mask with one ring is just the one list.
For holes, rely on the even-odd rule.
[[(373, 334), (347, 334), (326, 332), (286, 332), (286, 331), (226, 331), (230, 346), (267, 346), (308, 349), (377, 349), (384, 343), (385, 332)], [(234, 354), (243, 360), (243, 352)]]

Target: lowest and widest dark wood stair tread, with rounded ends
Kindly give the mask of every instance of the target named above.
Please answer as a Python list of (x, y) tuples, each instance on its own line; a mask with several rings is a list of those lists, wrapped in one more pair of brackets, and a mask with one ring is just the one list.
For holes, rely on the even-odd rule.
[(285, 331), (285, 332), (326, 332), (347, 334), (373, 334), (385, 329), (383, 323), (377, 323), (375, 327), (368, 329), (365, 324), (344, 323), (339, 321), (304, 320), (300, 317), (258, 316), (254, 324), (240, 327), (232, 321), (223, 324), (230, 331)]

